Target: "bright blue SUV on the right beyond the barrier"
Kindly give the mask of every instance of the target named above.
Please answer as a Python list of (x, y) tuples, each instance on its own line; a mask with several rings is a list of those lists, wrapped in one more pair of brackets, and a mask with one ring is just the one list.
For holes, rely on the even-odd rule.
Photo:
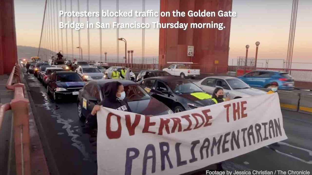
[(238, 77), (249, 86), (268, 88), (270, 83), (278, 83), (278, 89), (292, 91), (295, 88), (294, 79), (287, 72), (256, 70)]

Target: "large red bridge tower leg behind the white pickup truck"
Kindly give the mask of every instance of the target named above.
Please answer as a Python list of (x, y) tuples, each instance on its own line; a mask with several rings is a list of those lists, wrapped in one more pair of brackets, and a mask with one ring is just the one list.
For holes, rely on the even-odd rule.
[[(184, 11), (186, 17), (160, 17), (160, 23), (189, 23), (188, 29), (159, 30), (159, 68), (167, 62), (190, 62), (200, 68), (201, 73), (226, 72), (229, 55), (231, 17), (218, 17), (219, 10), (232, 10), (232, 0), (160, 0), (160, 12)], [(216, 17), (188, 17), (187, 12), (216, 12)], [(218, 29), (191, 29), (190, 23), (222, 23)], [(188, 57), (188, 45), (194, 46), (194, 56)]]

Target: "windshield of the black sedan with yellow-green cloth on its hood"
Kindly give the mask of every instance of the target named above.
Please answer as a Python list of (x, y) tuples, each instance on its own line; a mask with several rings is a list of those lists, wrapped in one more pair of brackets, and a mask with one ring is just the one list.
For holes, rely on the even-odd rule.
[(170, 89), (176, 94), (190, 94), (203, 92), (201, 88), (188, 80), (170, 81), (167, 83)]

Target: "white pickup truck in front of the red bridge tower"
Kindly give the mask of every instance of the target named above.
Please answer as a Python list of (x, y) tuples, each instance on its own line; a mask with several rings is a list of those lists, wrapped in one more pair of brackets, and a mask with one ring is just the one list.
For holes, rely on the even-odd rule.
[(197, 77), (200, 75), (199, 69), (189, 69), (184, 64), (171, 64), (168, 68), (163, 69), (174, 76), (184, 77)]

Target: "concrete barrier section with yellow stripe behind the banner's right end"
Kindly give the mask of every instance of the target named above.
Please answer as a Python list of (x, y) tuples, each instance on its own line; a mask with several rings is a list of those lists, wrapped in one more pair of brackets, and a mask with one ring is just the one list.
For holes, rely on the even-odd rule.
[[(270, 89), (256, 87), (257, 89), (263, 91), (270, 91)], [(292, 92), (292, 91), (283, 91), (278, 90), (278, 96), (280, 97), (280, 108), (289, 110), (289, 111), (298, 111), (299, 110), (299, 100), (300, 100), (300, 93), (299, 92)]]

